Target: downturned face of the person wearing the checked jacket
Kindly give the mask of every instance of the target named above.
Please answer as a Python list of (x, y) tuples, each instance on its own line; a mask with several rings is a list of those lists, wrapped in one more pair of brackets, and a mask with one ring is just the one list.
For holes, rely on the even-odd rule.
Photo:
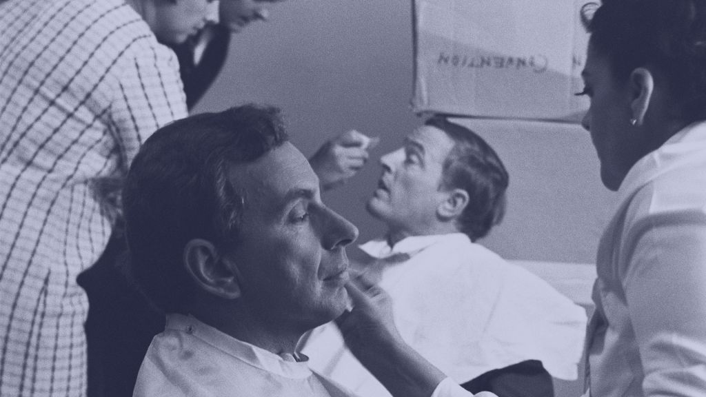
[(155, 1), (155, 26), (152, 30), (161, 41), (179, 44), (203, 29), (212, 0)]

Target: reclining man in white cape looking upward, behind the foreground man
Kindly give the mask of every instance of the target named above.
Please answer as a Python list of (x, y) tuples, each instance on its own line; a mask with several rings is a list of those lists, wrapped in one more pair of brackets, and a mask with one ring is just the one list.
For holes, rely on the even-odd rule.
[[(402, 338), (474, 393), (546, 397), (575, 379), (584, 309), (477, 243), (503, 218), (508, 172), (477, 134), (441, 117), (381, 159), (368, 211), (388, 227), (362, 244), (361, 277), (391, 297)], [(304, 352), (362, 396), (387, 396), (327, 324)], [(550, 375), (551, 374), (551, 375)]]

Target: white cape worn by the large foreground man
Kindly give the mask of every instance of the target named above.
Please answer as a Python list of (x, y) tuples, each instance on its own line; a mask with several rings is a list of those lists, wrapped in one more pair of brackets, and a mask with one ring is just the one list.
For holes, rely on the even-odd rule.
[(311, 372), (306, 361), (280, 357), (237, 340), (192, 316), (169, 314), (140, 367), (133, 397), (351, 397)]

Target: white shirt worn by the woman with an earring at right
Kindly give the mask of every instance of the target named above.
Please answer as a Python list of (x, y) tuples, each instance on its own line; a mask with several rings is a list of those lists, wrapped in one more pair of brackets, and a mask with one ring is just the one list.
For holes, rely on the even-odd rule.
[(597, 256), (594, 397), (706, 395), (706, 123), (640, 159)]

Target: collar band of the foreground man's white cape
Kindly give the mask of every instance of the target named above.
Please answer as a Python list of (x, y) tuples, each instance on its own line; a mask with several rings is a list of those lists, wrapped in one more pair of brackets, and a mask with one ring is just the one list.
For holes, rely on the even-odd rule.
[(233, 338), (227, 333), (204, 324), (193, 316), (177, 313), (167, 314), (165, 330), (187, 333), (225, 352), (227, 355), (282, 377), (304, 379), (311, 376), (306, 356), (303, 356), (304, 360), (299, 362), (295, 361), (294, 357), (289, 357), (289, 359), (281, 357), (251, 343)]

